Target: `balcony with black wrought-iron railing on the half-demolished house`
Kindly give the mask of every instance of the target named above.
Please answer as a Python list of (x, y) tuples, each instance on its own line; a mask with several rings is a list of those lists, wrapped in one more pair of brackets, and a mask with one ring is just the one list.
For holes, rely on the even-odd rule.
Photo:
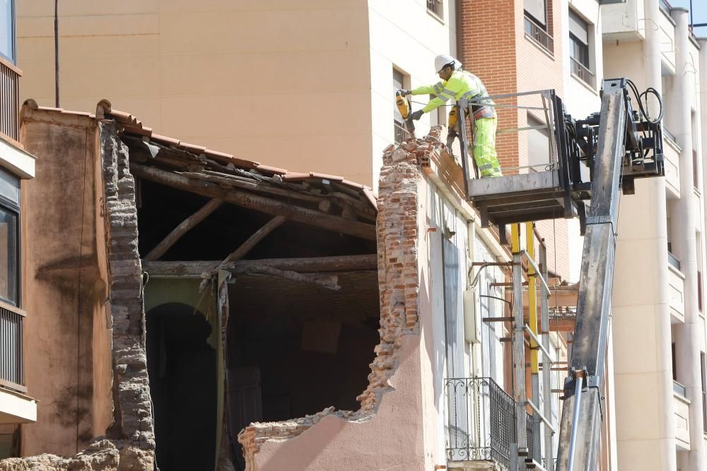
[[(448, 379), (445, 394), (448, 468), (465, 469), (464, 462), (486, 461), (508, 469), (510, 443), (515, 441), (513, 398), (491, 378)], [(527, 413), (525, 425), (526, 446), (532, 453), (532, 418)]]

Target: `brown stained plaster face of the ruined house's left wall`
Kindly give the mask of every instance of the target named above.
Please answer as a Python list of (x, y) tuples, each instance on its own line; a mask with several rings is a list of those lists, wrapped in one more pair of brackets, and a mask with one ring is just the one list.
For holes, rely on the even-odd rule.
[[(103, 239), (97, 239), (95, 125), (88, 117), (25, 117), (37, 156), (23, 185), (25, 381), (40, 401), (23, 455), (72, 455), (112, 422)], [(45, 116), (46, 118), (46, 116)]]

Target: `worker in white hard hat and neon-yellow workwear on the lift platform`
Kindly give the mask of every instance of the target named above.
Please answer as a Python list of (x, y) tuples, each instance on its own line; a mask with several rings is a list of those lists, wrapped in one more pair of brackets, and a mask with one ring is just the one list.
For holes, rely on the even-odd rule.
[[(450, 99), (469, 100), (488, 97), (486, 87), (473, 73), (463, 71), (462, 64), (452, 56), (443, 54), (435, 58), (435, 69), (442, 79), (435, 85), (423, 85), (414, 90), (400, 90), (405, 95), (435, 95), (423, 109), (410, 114), (410, 119), (420, 119), (424, 113), (447, 103)], [(491, 106), (484, 105), (488, 104)], [(501, 165), (496, 155), (496, 110), (493, 102), (483, 100), (472, 105), (474, 112), (474, 160), (477, 162), (481, 178), (502, 177)], [(457, 121), (458, 123), (458, 121)], [(452, 132), (452, 130), (450, 130)], [(470, 146), (471, 147), (471, 146)]]

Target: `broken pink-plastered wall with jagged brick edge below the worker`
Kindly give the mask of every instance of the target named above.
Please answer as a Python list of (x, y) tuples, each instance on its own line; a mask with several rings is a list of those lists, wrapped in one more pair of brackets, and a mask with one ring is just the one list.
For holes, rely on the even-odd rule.
[(377, 224), (380, 345), (369, 386), (358, 397), (361, 410), (329, 408), (292, 421), (251, 424), (239, 435), (248, 471), (430, 470), (445, 463), (435, 400), (440, 391), (433, 380), (443, 349), (431, 333), (429, 292), (428, 192), (433, 190), (421, 169), (435, 151), (433, 142), (390, 146), (383, 157)]

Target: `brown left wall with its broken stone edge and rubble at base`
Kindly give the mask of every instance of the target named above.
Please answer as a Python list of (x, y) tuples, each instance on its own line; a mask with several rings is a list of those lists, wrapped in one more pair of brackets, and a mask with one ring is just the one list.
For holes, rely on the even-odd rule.
[[(22, 132), (25, 148), (42, 162), (33, 181), (38, 186), (25, 189), (23, 195), (25, 207), (31, 208), (23, 221), (28, 246), (23, 267), (31, 270), (25, 271), (25, 295), (37, 305), (37, 311), (35, 304), (27, 306), (28, 314), (37, 313), (25, 328), (25, 338), (35, 347), (25, 349), (31, 352), (26, 356), (32, 378), (28, 386), (45, 402), (37, 423), (23, 435), (23, 441), (25, 436), (29, 439), (23, 454), (55, 454), (2, 460), (0, 471), (151, 471), (155, 440), (135, 182), (127, 147), (112, 121), (37, 110), (33, 103), (23, 107)], [(78, 316), (76, 302), (62, 296), (85, 306), (78, 309)], [(72, 314), (76, 328), (83, 321), (78, 335), (59, 325)], [(70, 362), (76, 357), (72, 335), (87, 344), (80, 344), (84, 349), (78, 353), (78, 364)], [(67, 371), (57, 371), (57, 365)], [(81, 381), (78, 395), (76, 371)], [(82, 393), (83, 384), (93, 385), (93, 391), (83, 386), (88, 392)], [(64, 397), (59, 395), (62, 391), (66, 405), (57, 403), (57, 396)], [(83, 406), (78, 411), (71, 409), (76, 400)], [(78, 443), (76, 422), (61, 427), (56, 423), (70, 422), (76, 414), (83, 433)], [(85, 449), (74, 455), (79, 447)]]

